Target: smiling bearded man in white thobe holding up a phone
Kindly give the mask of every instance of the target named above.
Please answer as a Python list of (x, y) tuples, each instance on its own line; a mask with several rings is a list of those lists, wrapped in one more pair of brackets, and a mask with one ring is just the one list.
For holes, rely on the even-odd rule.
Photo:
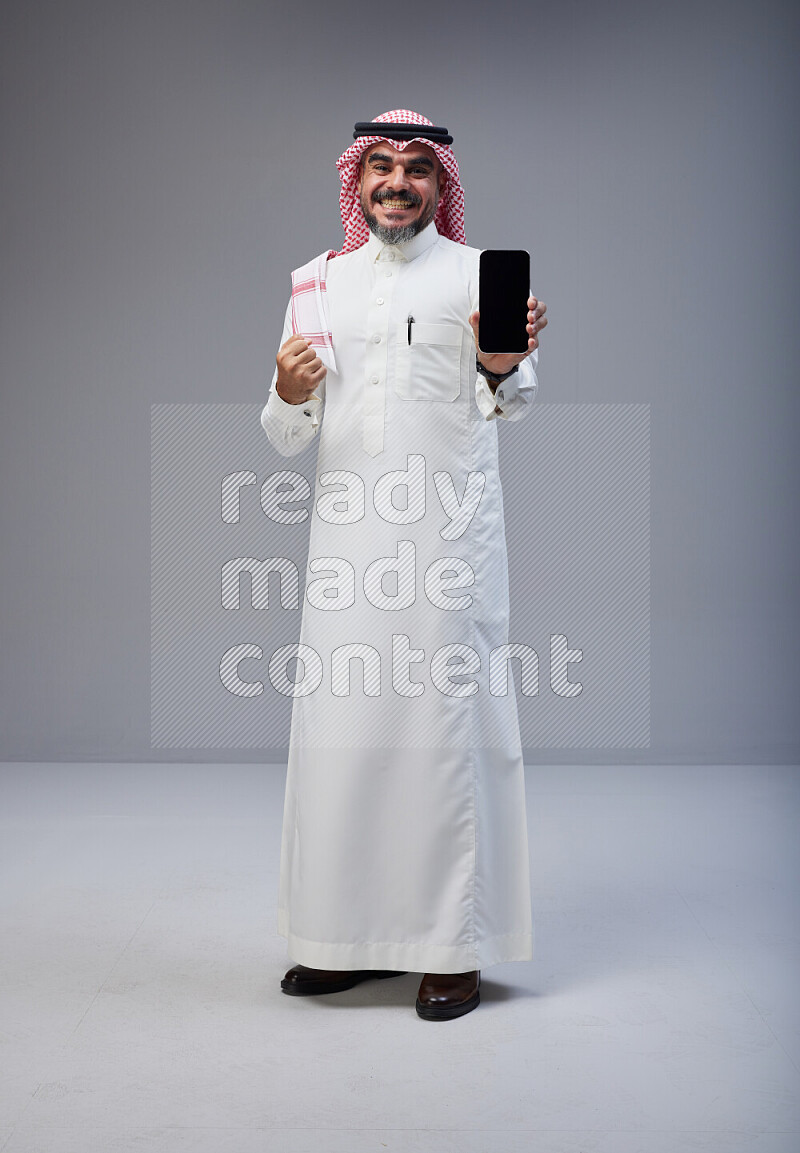
[(293, 273), (262, 414), (284, 455), (319, 437), (281, 987), (421, 972), (416, 1011), (443, 1020), (478, 1004), (482, 967), (533, 956), (495, 421), (528, 412), (545, 306), (527, 353), (482, 353), (452, 137), (408, 110), (354, 137), (345, 247)]

